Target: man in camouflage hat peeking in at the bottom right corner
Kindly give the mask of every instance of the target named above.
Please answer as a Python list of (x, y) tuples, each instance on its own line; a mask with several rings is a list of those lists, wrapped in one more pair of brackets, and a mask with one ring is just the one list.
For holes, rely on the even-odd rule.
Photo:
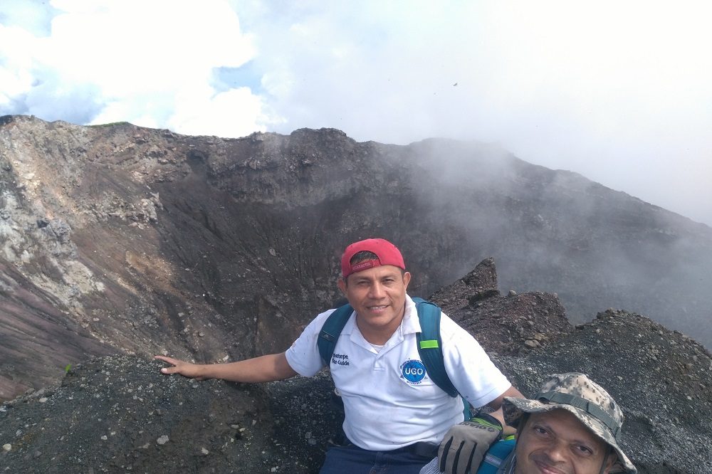
[(584, 374), (550, 376), (534, 399), (506, 397), (503, 412), (517, 442), (500, 473), (637, 472), (618, 445), (623, 412)]

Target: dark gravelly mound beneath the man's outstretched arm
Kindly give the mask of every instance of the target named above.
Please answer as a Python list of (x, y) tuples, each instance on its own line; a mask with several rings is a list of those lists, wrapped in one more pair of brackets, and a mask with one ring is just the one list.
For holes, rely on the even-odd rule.
[(162, 365), (93, 359), (0, 406), (0, 472), (307, 473), (320, 462), (334, 423), (315, 418), (309, 436), (293, 423), (328, 407), (328, 391), (304, 410), (290, 382), (270, 399), (268, 386), (162, 376)]

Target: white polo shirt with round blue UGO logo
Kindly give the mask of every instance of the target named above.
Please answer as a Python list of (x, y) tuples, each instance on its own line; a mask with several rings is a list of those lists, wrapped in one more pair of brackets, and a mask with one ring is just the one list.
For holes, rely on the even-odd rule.
[[(323, 367), (316, 342), (332, 312), (315, 317), (287, 349), (287, 362), (298, 374), (313, 376)], [(419, 441), (439, 444), (462, 421), (461, 399), (427, 376), (417, 332), (420, 322), (409, 296), (401, 325), (379, 351), (361, 335), (355, 312), (342, 330), (330, 370), (344, 401), (344, 432), (356, 446), (390, 451)], [(511, 386), (480, 344), (444, 313), (440, 337), (446, 372), (470, 404), (486, 405)]]

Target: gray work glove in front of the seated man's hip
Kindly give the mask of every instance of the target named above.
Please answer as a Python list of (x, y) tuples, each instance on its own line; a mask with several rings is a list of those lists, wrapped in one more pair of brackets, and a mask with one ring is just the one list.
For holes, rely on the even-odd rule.
[(438, 459), (445, 474), (476, 472), (492, 443), (501, 438), (502, 425), (488, 414), (455, 425), (445, 433)]

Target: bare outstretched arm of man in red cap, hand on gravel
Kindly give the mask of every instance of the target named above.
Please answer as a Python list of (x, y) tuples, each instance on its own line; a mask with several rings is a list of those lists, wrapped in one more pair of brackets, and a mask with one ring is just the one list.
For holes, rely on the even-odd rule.
[(266, 382), (288, 379), (297, 373), (290, 367), (284, 352), (245, 359), (229, 364), (191, 364), (172, 357), (155, 356), (172, 367), (161, 369), (163, 374), (181, 374), (191, 379), (224, 379), (238, 382)]

